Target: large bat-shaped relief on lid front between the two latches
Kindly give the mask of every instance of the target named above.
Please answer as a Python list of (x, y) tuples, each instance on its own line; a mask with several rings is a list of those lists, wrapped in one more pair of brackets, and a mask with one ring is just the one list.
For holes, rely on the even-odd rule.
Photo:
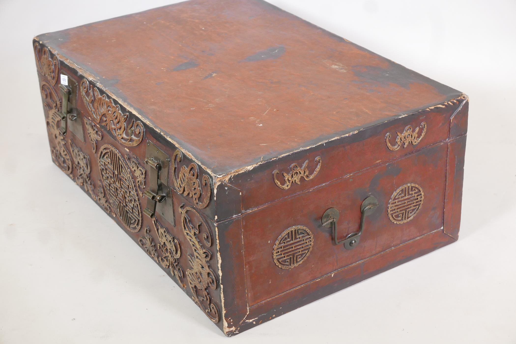
[(93, 120), (106, 126), (118, 142), (128, 147), (136, 146), (141, 142), (143, 124), (135, 120), (128, 122), (129, 114), (122, 113), (120, 105), (115, 105), (105, 94), (100, 95), (99, 90), (91, 86), (88, 79), (80, 81), (80, 94)]

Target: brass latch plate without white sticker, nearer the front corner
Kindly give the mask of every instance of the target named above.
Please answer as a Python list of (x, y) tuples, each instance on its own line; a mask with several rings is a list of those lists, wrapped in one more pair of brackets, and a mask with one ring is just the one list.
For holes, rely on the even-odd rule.
[(149, 187), (144, 192), (148, 200), (147, 207), (143, 209), (143, 214), (152, 219), (157, 212), (175, 226), (172, 194), (168, 185), (169, 165), (170, 157), (157, 148), (155, 144), (147, 141), (145, 166), (149, 172)]

